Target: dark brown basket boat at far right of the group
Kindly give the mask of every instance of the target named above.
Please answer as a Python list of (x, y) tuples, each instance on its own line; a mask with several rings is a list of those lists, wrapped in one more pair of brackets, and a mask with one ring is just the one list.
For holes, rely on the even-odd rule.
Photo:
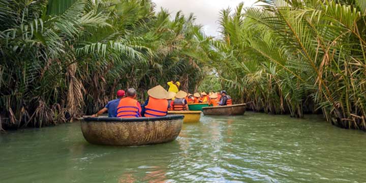
[(247, 104), (229, 106), (203, 107), (204, 115), (242, 115), (246, 111)]

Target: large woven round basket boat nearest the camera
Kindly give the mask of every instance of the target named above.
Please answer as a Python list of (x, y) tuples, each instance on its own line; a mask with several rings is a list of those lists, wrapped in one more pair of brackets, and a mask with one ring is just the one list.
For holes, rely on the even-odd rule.
[(184, 115), (164, 117), (84, 117), (81, 131), (97, 145), (136, 146), (171, 142), (177, 138)]

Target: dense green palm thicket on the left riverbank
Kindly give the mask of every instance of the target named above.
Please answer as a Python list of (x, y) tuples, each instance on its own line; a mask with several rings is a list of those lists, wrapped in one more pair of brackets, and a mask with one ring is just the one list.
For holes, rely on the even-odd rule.
[(64, 123), (119, 88), (194, 90), (210, 40), (194, 20), (149, 0), (0, 0), (0, 130)]

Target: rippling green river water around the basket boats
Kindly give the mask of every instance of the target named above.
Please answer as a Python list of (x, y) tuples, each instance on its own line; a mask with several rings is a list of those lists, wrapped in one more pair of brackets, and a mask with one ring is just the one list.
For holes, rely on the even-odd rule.
[(366, 182), (366, 133), (321, 116), (202, 116), (166, 144), (87, 143), (80, 124), (0, 135), (0, 182)]

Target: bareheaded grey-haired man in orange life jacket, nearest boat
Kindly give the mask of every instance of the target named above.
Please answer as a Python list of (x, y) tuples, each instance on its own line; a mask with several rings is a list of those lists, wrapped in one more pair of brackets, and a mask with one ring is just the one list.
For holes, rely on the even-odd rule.
[(141, 105), (135, 100), (136, 89), (129, 88), (127, 90), (127, 97), (119, 101), (116, 111), (116, 117), (119, 118), (134, 118), (141, 117)]

